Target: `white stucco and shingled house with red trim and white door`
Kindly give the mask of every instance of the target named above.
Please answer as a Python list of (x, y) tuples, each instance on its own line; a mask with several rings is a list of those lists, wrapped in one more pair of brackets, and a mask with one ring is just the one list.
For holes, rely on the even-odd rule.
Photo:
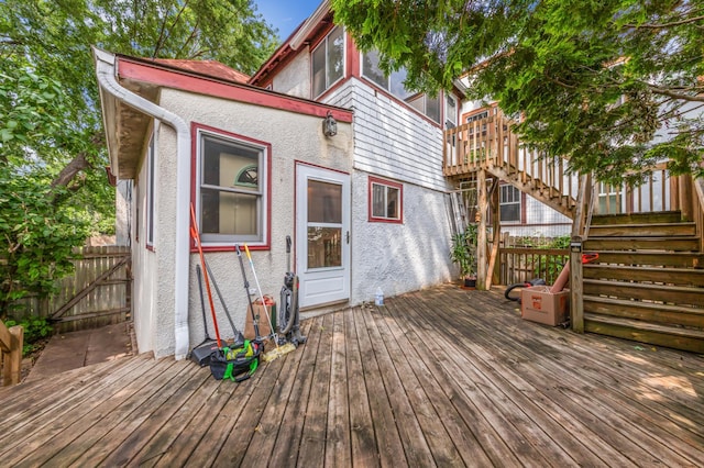
[(441, 142), (459, 99), (405, 90), (330, 19), (323, 2), (249, 82), (221, 64), (95, 49), (111, 171), (132, 181), (140, 352), (183, 358), (205, 336), (191, 204), (238, 326), (248, 301), (235, 244), (276, 297), (292, 235), (304, 312), (455, 276)]

